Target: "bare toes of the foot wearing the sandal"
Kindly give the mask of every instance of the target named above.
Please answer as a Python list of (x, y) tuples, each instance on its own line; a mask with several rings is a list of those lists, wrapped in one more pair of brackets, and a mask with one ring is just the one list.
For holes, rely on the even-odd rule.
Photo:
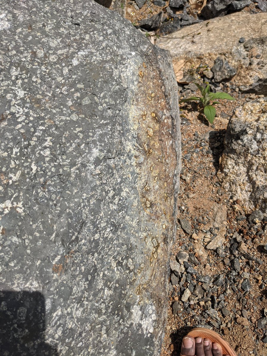
[(181, 354), (184, 356), (229, 356), (224, 355), (221, 345), (218, 342), (211, 342), (202, 337), (192, 337), (185, 335), (183, 337)]

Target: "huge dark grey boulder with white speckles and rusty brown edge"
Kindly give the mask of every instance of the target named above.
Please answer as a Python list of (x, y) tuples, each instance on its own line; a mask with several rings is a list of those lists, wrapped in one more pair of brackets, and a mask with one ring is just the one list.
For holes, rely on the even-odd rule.
[(94, 1), (0, 8), (1, 352), (158, 355), (180, 169), (169, 54)]

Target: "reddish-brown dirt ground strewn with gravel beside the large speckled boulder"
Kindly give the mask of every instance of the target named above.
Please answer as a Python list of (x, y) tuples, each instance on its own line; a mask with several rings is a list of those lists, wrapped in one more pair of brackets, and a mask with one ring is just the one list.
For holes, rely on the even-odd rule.
[[(233, 201), (223, 191), (216, 176), (229, 117), (236, 106), (242, 105), (245, 100), (253, 100), (256, 96), (230, 94), (237, 100), (228, 101), (226, 105), (217, 105), (218, 117), (215, 117), (213, 127), (199, 114), (195, 103), (180, 104), (182, 173), (178, 221), (187, 219), (192, 232), (186, 233), (178, 223), (171, 261), (176, 260), (179, 251), (187, 252), (190, 265), (202, 276), (209, 276), (210, 282), (208, 286), (204, 286), (206, 289), (203, 288), (204, 283), (199, 281), (194, 272), (182, 281), (182, 286), (172, 285), (170, 281), (168, 320), (161, 356), (179, 355), (182, 337), (193, 326), (198, 325), (208, 326), (223, 335), (238, 356), (267, 355), (266, 325), (263, 328), (261, 325), (265, 321), (261, 318), (267, 312), (267, 251), (264, 249), (267, 244), (266, 221), (250, 224), (248, 216), (251, 212), (246, 211), (240, 201)], [(214, 204), (227, 211), (225, 242), (219, 250), (208, 250), (206, 246), (210, 241), (210, 231), (207, 235), (206, 226), (209, 227), (209, 219), (214, 214)], [(244, 257), (242, 248), (252, 257)], [(234, 258), (240, 262), (240, 271), (237, 267), (236, 272), (232, 265)], [(250, 258), (259, 262), (258, 258), (261, 264)], [(226, 279), (222, 284), (215, 285), (214, 279), (218, 275)], [(245, 279), (250, 283), (247, 291), (242, 289)], [(181, 278), (179, 281), (181, 282)], [(188, 288), (190, 284), (191, 290), (197, 284), (200, 285), (204, 294), (195, 296), (192, 293), (192, 301), (189, 297), (184, 304), (181, 301), (181, 289)], [(179, 303), (179, 310), (174, 315), (173, 303), (176, 301)], [(222, 311), (222, 307), (227, 311)], [(210, 316), (210, 310), (215, 311), (213, 317)]]

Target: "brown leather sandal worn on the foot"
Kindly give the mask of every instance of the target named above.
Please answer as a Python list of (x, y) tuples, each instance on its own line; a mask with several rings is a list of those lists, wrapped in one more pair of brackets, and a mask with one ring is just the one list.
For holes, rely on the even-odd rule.
[[(206, 329), (206, 328), (194, 328), (190, 330), (187, 335), (192, 336), (194, 338), (202, 337), (202, 339), (209, 339), (211, 342), (217, 342), (218, 344), (221, 345), (224, 355), (237, 356), (235, 351), (228, 344), (228, 342), (224, 340), (223, 337), (221, 337), (218, 333), (215, 333), (215, 331), (213, 330)], [(180, 354), (180, 356), (185, 356), (185, 355)]]

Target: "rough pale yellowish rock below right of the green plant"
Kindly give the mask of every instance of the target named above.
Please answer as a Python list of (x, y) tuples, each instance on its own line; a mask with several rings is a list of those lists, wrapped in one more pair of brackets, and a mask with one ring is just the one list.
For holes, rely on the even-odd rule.
[(235, 109), (220, 159), (219, 177), (233, 199), (267, 213), (267, 98)]

